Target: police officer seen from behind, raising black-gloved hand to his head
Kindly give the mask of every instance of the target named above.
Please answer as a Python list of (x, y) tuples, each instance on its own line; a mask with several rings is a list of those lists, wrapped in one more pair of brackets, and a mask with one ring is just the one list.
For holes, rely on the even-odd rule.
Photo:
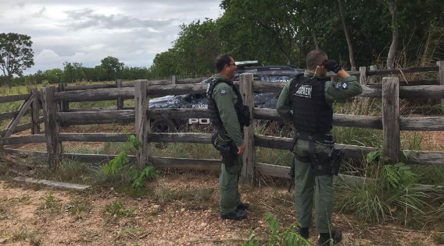
[[(342, 81), (329, 81), (327, 70)], [(332, 104), (362, 92), (355, 76), (342, 70), (326, 53), (316, 49), (307, 55), (307, 70), (290, 80), (279, 95), (277, 112), (295, 125), (295, 204), (299, 233), (308, 238), (312, 225), (313, 191), (315, 190), (315, 223), (320, 233), (319, 245), (330, 245), (342, 239), (339, 230), (331, 229), (333, 213), (333, 174), (331, 156), (334, 136)], [(293, 113), (291, 112), (293, 110)], [(337, 151), (334, 153), (337, 154)], [(340, 164), (340, 161), (339, 161)], [(336, 174), (337, 175), (337, 174)]]

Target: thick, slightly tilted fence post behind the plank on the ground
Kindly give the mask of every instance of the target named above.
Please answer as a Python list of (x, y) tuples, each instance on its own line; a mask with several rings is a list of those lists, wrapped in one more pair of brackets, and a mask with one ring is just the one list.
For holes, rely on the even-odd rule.
[(57, 104), (54, 101), (54, 92), (56, 92), (56, 88), (53, 86), (41, 89), (48, 164), (55, 168), (62, 155), (62, 143), (58, 139), (59, 123), (56, 118)]

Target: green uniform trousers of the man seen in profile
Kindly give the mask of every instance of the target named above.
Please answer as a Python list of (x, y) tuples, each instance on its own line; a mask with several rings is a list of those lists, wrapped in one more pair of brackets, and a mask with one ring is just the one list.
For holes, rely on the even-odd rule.
[(242, 155), (237, 156), (237, 164), (229, 168), (222, 163), (221, 175), (219, 176), (219, 194), (221, 196), (221, 212), (228, 214), (241, 205), (238, 188), (239, 177), (242, 171)]

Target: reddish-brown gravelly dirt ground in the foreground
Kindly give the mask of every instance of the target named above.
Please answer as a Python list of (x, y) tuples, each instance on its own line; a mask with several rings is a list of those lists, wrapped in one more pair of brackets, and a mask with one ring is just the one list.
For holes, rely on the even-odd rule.
[[(186, 199), (159, 203), (152, 194), (131, 198), (113, 188), (74, 192), (3, 179), (0, 180), (0, 245), (243, 245), (251, 231), (262, 239), (269, 235), (267, 223), (262, 219), (266, 212), (276, 216), (282, 226), (296, 222), (293, 195), (287, 193), (285, 185), (280, 186), (271, 182), (262, 183), (260, 188), (241, 189), (243, 200), (251, 204), (248, 219), (230, 221), (219, 218), (216, 173), (163, 175), (146, 187), (179, 192), (214, 190), (206, 201), (195, 206)], [(134, 212), (121, 218), (105, 213), (105, 207), (113, 201), (122, 201), (126, 210)], [(73, 213), (79, 204), (83, 209)], [(352, 215), (334, 214), (333, 227), (343, 232), (340, 246), (438, 245), (433, 239), (438, 232), (391, 224), (367, 225)], [(310, 241), (317, 242), (316, 233), (310, 234)]]

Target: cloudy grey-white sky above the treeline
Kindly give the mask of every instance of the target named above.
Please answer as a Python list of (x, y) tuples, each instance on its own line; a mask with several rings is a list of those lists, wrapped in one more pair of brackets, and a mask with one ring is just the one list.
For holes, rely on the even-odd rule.
[(113, 56), (128, 66), (152, 64), (172, 47), (179, 25), (222, 14), (221, 0), (0, 0), (0, 32), (31, 36), (37, 70), (63, 62), (95, 66)]

